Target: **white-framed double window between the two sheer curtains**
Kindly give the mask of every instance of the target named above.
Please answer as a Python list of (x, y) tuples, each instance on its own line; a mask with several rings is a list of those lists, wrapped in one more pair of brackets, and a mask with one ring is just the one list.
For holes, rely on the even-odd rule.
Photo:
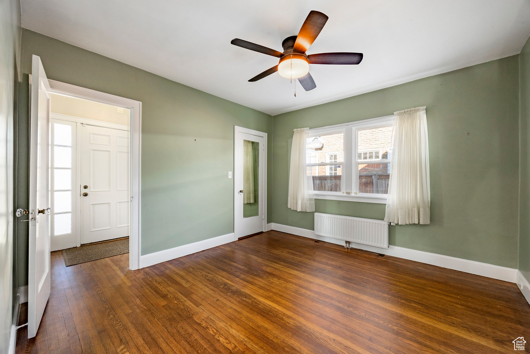
[(310, 129), (315, 198), (386, 202), (393, 116)]

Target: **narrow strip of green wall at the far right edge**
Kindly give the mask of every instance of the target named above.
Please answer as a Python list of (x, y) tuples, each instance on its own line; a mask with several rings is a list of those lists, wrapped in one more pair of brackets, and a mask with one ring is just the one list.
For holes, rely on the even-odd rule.
[(519, 270), (530, 279), (530, 39), (519, 54)]

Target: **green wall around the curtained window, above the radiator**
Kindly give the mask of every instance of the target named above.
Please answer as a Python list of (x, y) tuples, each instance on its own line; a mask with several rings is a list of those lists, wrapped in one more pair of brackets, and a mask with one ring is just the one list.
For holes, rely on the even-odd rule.
[[(272, 221), (313, 229), (287, 209), (288, 140), (317, 128), (427, 106), (431, 224), (391, 226), (390, 244), (517, 268), (518, 56), (274, 116)], [(469, 133), (469, 135), (468, 135)], [(382, 204), (316, 200), (315, 210), (383, 219)]]

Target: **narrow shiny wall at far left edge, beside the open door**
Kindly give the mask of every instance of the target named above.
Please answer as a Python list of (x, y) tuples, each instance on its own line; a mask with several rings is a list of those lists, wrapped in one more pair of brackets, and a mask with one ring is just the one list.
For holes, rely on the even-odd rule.
[(20, 73), (20, 2), (0, 2), (0, 354), (9, 352), (17, 282), (13, 180), (17, 82)]

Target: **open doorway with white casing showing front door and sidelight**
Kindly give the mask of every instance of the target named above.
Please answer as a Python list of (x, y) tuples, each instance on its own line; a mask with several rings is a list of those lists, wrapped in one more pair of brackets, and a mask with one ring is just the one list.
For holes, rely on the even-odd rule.
[(120, 240), (138, 269), (142, 103), (49, 83), (51, 250)]

